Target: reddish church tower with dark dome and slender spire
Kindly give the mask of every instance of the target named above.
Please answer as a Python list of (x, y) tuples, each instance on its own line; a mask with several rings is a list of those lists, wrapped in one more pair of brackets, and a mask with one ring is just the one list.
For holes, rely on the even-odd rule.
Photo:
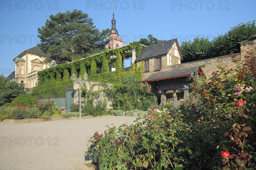
[(116, 29), (116, 19), (115, 19), (115, 14), (114, 14), (114, 8), (113, 8), (113, 19), (111, 20), (112, 27), (110, 30), (110, 36), (109, 39), (107, 40), (106, 43), (106, 48), (107, 49), (115, 49), (117, 47), (122, 47), (124, 44), (124, 41), (119, 38), (118, 31)]

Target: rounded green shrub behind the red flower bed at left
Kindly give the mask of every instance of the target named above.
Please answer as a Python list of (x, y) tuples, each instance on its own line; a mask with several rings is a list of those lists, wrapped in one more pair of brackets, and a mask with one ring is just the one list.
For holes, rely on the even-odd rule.
[(28, 94), (20, 94), (20, 96), (15, 97), (13, 101), (10, 103), (12, 106), (16, 106), (17, 104), (24, 106), (24, 105), (35, 105), (37, 103), (37, 99), (33, 96)]

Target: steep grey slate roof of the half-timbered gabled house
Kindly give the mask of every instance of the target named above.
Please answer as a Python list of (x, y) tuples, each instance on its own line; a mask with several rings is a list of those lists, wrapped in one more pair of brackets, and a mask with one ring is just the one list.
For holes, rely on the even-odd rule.
[(177, 38), (148, 46), (140, 52), (140, 55), (135, 59), (135, 61), (167, 54), (176, 40)]

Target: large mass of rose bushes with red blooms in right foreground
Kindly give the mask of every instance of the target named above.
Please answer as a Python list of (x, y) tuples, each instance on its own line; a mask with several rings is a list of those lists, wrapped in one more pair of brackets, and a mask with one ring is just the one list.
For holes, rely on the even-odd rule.
[(96, 132), (88, 148), (93, 164), (115, 170), (255, 169), (256, 69), (255, 62), (244, 62), (208, 80), (195, 77), (190, 100), (172, 111), (154, 109), (134, 125)]

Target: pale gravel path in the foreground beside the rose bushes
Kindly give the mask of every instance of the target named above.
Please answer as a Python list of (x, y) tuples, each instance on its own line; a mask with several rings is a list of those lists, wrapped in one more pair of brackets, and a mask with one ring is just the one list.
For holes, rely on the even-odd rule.
[(84, 165), (87, 141), (105, 125), (119, 126), (134, 116), (53, 119), (48, 122), (0, 122), (0, 170), (89, 170)]

